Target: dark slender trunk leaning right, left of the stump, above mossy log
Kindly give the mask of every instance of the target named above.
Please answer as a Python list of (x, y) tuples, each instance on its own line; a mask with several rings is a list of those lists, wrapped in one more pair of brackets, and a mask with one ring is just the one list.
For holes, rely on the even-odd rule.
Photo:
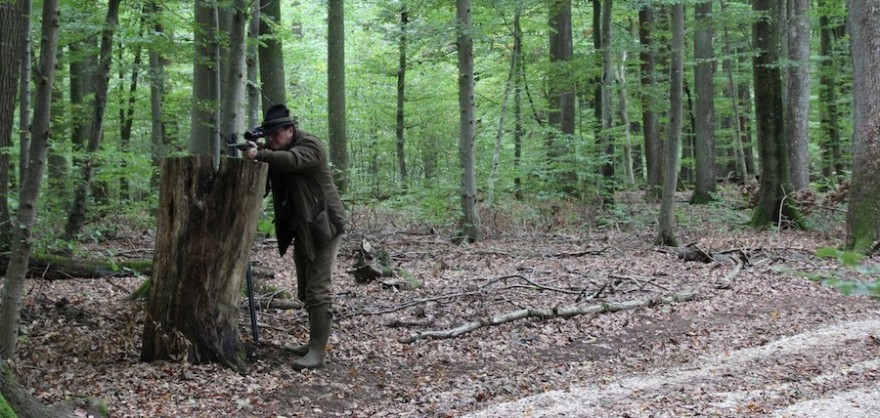
[(72, 239), (82, 230), (87, 211), (87, 198), (92, 186), (97, 159), (95, 153), (104, 136), (104, 113), (107, 108), (107, 89), (110, 83), (110, 64), (113, 61), (113, 34), (119, 20), (120, 0), (110, 0), (107, 5), (107, 17), (104, 21), (104, 30), (101, 32), (101, 53), (98, 63), (97, 84), (95, 88), (95, 109), (92, 116), (92, 126), (89, 129), (89, 143), (86, 148), (86, 162), (83, 165), (82, 181), (77, 185), (74, 193), (73, 206), (70, 216), (67, 218), (67, 226), (64, 235)]

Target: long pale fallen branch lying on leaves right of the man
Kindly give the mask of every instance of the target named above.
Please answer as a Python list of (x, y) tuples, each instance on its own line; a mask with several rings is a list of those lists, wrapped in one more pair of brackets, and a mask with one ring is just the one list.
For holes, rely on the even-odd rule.
[(609, 303), (599, 303), (595, 305), (587, 305), (587, 306), (564, 306), (557, 308), (546, 308), (546, 309), (519, 309), (513, 312), (508, 312), (501, 315), (496, 315), (489, 318), (484, 318), (479, 321), (468, 322), (466, 324), (460, 325), (455, 328), (446, 329), (446, 330), (432, 330), (432, 331), (422, 331), (410, 334), (407, 337), (403, 337), (400, 339), (401, 343), (411, 344), (418, 340), (423, 339), (447, 339), (447, 338), (455, 338), (464, 334), (467, 334), (471, 331), (477, 330), (479, 328), (488, 327), (492, 325), (499, 325), (506, 322), (516, 321), (518, 319), (524, 318), (567, 318), (575, 315), (584, 315), (584, 314), (602, 314), (608, 312), (617, 312), (626, 309), (634, 309), (640, 307), (648, 307), (648, 306), (656, 306), (656, 305), (669, 305), (676, 302), (685, 302), (692, 300), (695, 297), (695, 293), (693, 292), (682, 292), (682, 293), (674, 293), (669, 296), (652, 296), (642, 299), (635, 299), (625, 302), (609, 302)]

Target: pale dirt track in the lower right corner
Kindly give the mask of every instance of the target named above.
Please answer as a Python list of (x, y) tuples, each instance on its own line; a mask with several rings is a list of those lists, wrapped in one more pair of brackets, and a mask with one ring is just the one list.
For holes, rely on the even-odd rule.
[[(760, 347), (703, 356), (680, 367), (621, 377), (598, 387), (554, 390), (466, 416), (640, 416), (643, 405), (658, 399), (679, 400), (672, 402), (674, 410), (662, 415), (680, 416), (691, 409), (689, 404), (696, 404), (689, 400), (702, 396), (703, 408), (708, 409), (694, 407), (694, 414), (727, 415), (745, 408), (748, 411), (742, 412), (779, 417), (876, 417), (880, 413), (880, 382), (852, 382), (851, 377), (880, 374), (880, 360), (835, 359), (834, 353), (847, 352), (852, 345), (877, 345), (878, 337), (880, 320), (841, 322)], [(813, 362), (826, 371), (800, 379), (800, 370)], [(811, 396), (828, 386), (840, 390)], [(695, 388), (699, 388), (696, 393)], [(800, 396), (791, 399), (793, 393)]]

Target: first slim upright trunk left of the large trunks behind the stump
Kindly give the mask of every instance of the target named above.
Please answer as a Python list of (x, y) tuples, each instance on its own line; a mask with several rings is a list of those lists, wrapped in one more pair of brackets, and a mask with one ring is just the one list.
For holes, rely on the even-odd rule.
[[(153, 36), (161, 38), (165, 29), (160, 23), (161, 11), (157, 0), (150, 0), (147, 4), (147, 13), (152, 24)], [(157, 39), (150, 43), (150, 154), (153, 162), (153, 172), (156, 173), (150, 179), (152, 187), (158, 187), (158, 168), (162, 158), (165, 157), (165, 123), (162, 119), (162, 102), (165, 96), (165, 62), (160, 48), (156, 45)]]

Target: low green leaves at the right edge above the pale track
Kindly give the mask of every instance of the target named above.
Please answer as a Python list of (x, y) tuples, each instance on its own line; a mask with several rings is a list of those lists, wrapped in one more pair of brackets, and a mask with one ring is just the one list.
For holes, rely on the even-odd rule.
[(844, 295), (880, 298), (880, 265), (862, 263), (861, 254), (830, 247), (820, 248), (816, 255), (837, 260), (841, 268), (822, 272), (798, 272), (787, 268), (782, 270), (834, 287)]

